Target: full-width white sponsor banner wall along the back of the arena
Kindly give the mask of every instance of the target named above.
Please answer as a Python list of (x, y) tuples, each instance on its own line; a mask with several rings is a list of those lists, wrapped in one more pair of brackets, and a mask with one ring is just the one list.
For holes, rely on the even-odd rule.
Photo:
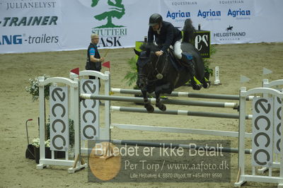
[(281, 0), (0, 0), (0, 53), (133, 47), (152, 13), (176, 27), (191, 18), (212, 44), (283, 42)]

